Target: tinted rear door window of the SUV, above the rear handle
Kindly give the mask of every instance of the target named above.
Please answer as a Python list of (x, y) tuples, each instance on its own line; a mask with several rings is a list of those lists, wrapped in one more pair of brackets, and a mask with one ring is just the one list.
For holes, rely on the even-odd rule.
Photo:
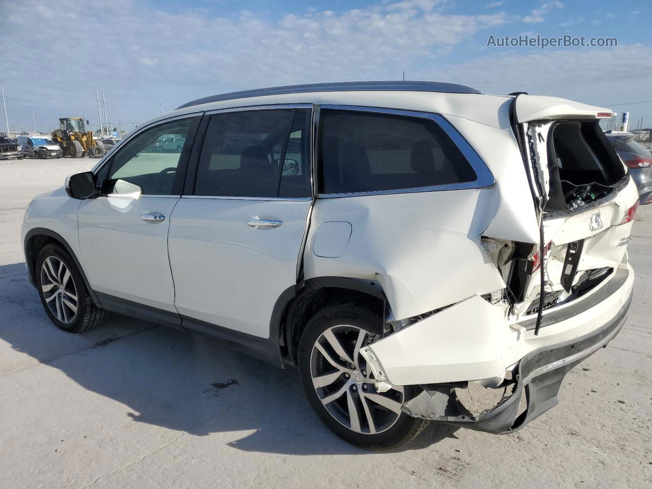
[(211, 116), (195, 195), (308, 196), (308, 110), (251, 110)]

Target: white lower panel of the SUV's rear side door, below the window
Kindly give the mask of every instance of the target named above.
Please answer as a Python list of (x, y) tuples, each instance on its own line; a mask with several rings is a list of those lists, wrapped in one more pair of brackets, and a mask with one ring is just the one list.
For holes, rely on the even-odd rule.
[(179, 314), (268, 338), (276, 299), (297, 280), (309, 207), (309, 198), (181, 198), (168, 237)]

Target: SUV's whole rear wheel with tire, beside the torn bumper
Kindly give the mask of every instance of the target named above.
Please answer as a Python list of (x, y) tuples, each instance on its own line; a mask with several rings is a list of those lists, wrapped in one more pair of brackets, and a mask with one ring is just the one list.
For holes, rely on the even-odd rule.
[(336, 435), (371, 450), (405, 445), (428, 424), (401, 411), (418, 388), (376, 392), (360, 349), (381, 330), (382, 319), (368, 308), (336, 304), (310, 319), (299, 343), (299, 375), (312, 408)]

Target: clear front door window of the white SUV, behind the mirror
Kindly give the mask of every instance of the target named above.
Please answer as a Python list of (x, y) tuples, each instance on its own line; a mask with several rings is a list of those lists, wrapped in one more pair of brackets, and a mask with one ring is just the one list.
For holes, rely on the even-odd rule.
[[(197, 119), (191, 117), (155, 126), (126, 143), (113, 156), (106, 192), (180, 194), (192, 142), (186, 136), (194, 130), (192, 126)], [(184, 138), (185, 141), (177, 143), (175, 138)]]

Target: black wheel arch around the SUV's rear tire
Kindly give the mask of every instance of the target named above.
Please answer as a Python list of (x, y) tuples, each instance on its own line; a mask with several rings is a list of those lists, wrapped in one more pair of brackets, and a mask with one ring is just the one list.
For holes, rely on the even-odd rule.
[(374, 280), (342, 276), (321, 276), (286, 289), (274, 306), (270, 330), (278, 333), (285, 363), (296, 365), (301, 333), (321, 308), (339, 302), (365, 304), (385, 317), (387, 297)]

